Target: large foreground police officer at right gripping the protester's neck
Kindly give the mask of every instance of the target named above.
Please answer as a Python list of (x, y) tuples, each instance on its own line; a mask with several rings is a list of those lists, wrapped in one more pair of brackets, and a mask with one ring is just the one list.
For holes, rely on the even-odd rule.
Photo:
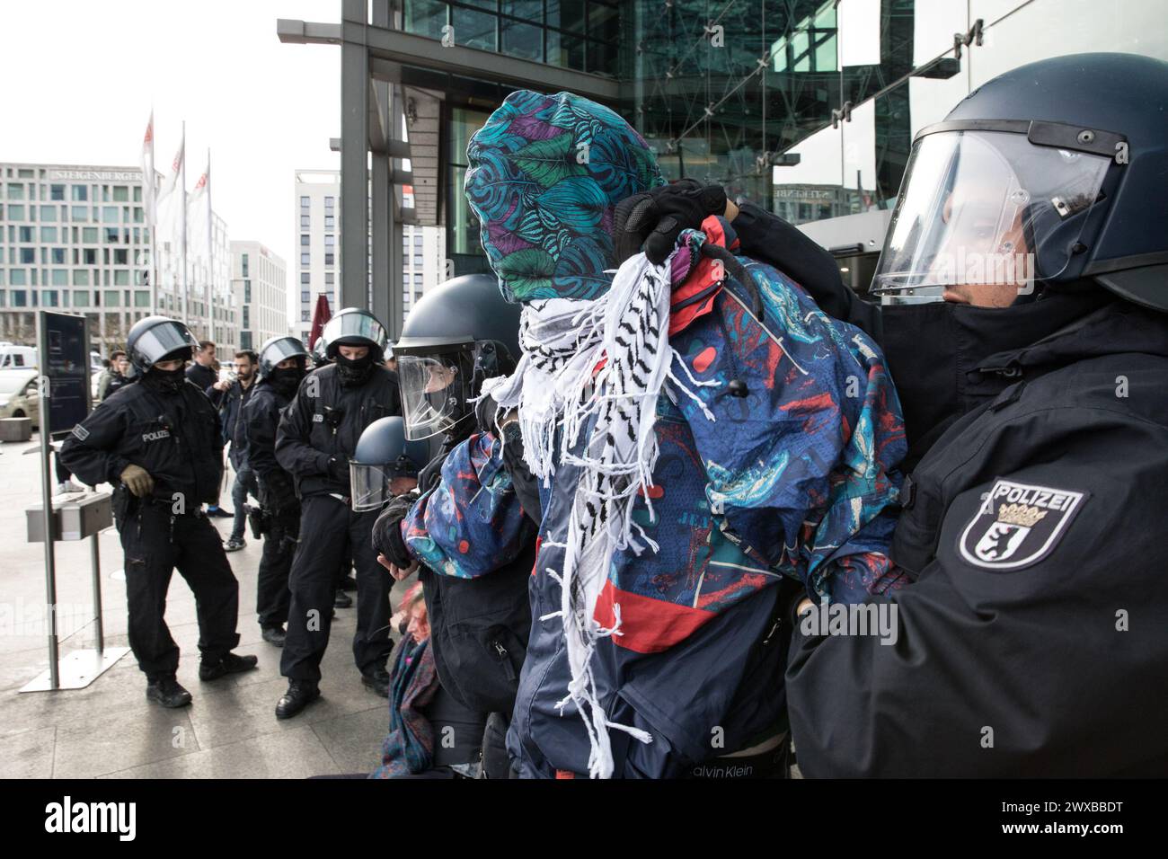
[[(734, 221), (882, 340), (910, 443), (895, 644), (792, 618), (805, 775), (1168, 774), (1166, 162), (1168, 63), (1061, 56), (918, 133), (885, 306), (790, 224)], [(632, 201), (631, 236), (691, 222), (709, 189), (680, 192)]]

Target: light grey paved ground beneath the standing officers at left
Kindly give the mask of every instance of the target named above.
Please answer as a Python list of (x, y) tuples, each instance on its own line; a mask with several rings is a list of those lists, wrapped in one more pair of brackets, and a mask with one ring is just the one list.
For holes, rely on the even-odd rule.
[[(132, 653), (84, 690), (20, 694), (48, 667), (46, 633), (29, 635), (13, 622), (44, 604), (43, 547), (26, 542), (25, 525), (25, 510), (41, 498), (37, 444), (37, 436), (32, 443), (0, 444), (0, 777), (304, 778), (364, 773), (380, 762), (389, 715), (353, 664), (355, 603), (338, 609), (333, 621), (321, 666), (324, 700), (294, 719), (276, 720), (272, 711), (286, 681), (279, 674), (280, 651), (260, 639), (256, 623), (262, 547), (250, 534), (246, 548), (228, 559), (239, 580), (236, 652), (257, 654), (258, 670), (199, 680), (195, 602), (175, 573), (166, 619), (182, 651), (179, 681), (194, 697), (189, 707), (147, 702), (145, 676)], [(223, 501), (230, 507), (229, 489)], [(213, 521), (223, 536), (230, 533), (230, 519)], [(125, 646), (125, 583), (111, 576), (121, 568), (121, 548), (113, 528), (99, 540), (105, 643)], [(60, 605), (92, 602), (89, 557), (88, 540), (57, 543)], [(395, 588), (395, 602), (402, 590)], [(72, 629), (67, 617), (63, 625), (62, 656), (93, 646), (92, 623)]]

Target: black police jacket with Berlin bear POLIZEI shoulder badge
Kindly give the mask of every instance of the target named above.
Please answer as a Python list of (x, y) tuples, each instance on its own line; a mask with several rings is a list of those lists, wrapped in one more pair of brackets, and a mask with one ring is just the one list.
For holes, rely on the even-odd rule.
[(1164, 775), (1168, 314), (1104, 302), (976, 375), (903, 492), (895, 643), (795, 626), (800, 768)]

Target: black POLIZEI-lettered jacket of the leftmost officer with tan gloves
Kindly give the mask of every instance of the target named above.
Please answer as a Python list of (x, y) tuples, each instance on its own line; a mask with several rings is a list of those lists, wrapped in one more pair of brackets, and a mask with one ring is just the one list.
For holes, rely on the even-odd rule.
[(218, 413), (190, 381), (175, 393), (148, 381), (127, 385), (74, 427), (61, 462), (85, 484), (117, 486), (127, 465), (154, 478), (154, 497), (167, 505), (181, 496), (189, 512), (218, 498), (223, 435)]

